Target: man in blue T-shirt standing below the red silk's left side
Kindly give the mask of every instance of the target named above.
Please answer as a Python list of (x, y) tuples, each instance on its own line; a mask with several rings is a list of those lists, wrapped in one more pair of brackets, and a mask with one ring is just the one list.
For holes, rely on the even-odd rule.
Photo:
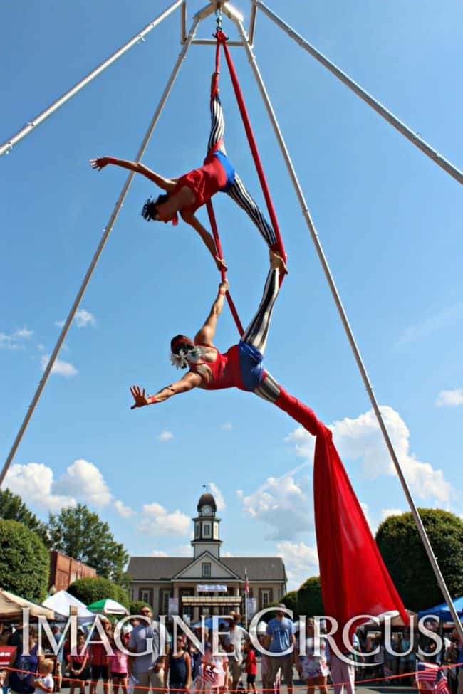
[(293, 694), (293, 644), (294, 624), (285, 616), (286, 607), (281, 604), (277, 607), (276, 616), (267, 624), (266, 649), (272, 654), (269, 656), (268, 680), (271, 685), (276, 680), (278, 671), (281, 671), (281, 680), (288, 687), (288, 694)]

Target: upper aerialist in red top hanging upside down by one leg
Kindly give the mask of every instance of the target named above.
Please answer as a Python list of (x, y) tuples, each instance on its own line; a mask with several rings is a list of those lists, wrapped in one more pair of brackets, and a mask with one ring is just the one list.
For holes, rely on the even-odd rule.
[[(207, 145), (207, 157), (204, 164), (199, 169), (189, 171), (180, 178), (166, 179), (160, 174), (155, 173), (145, 164), (140, 162), (128, 162), (125, 159), (115, 159), (114, 157), (99, 157), (92, 159), (90, 164), (94, 169), (103, 169), (108, 164), (114, 164), (123, 169), (135, 171), (143, 174), (150, 181), (165, 190), (167, 194), (162, 194), (157, 199), (148, 199), (142, 209), (142, 216), (150, 221), (172, 221), (178, 223), (178, 214), (187, 224), (190, 224), (199, 233), (206, 244), (219, 270), (227, 270), (227, 265), (222, 258), (217, 255), (217, 248), (214, 238), (201, 224), (199, 219), (194, 216), (194, 212), (199, 207), (206, 204), (213, 195), (222, 191), (227, 193), (236, 204), (238, 204), (249, 215), (259, 229), (264, 241), (274, 251), (278, 250), (275, 231), (264, 217), (264, 214), (256, 205), (244, 187), (239, 175), (235, 172), (233, 164), (227, 157), (224, 147), (224, 114), (219, 97), (219, 73), (212, 75), (211, 83), (211, 132)], [(177, 214), (178, 213), (178, 214)], [(283, 272), (286, 272), (286, 265), (282, 265)]]

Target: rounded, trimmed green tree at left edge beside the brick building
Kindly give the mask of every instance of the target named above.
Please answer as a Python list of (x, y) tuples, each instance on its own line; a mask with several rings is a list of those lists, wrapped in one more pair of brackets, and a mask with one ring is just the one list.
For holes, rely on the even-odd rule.
[(36, 532), (16, 520), (0, 520), (0, 586), (21, 597), (46, 598), (50, 556)]

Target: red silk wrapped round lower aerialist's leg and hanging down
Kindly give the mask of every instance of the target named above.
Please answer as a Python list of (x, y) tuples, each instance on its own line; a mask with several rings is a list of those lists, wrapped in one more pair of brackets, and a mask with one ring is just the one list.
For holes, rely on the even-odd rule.
[[(316, 436), (313, 496), (323, 606), (326, 616), (338, 620), (335, 640), (346, 651), (342, 630), (352, 617), (398, 610), (408, 624), (408, 616), (335, 449), (331, 431), (318, 421), (313, 410), (280, 389), (275, 404)], [(351, 627), (350, 636), (362, 621), (366, 618)]]

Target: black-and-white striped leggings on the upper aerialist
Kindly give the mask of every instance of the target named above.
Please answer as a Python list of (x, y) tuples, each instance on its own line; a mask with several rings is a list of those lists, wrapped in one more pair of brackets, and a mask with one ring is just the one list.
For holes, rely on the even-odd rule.
[[(227, 150), (224, 145), (224, 112), (220, 102), (219, 92), (216, 91), (211, 99), (211, 132), (209, 142), (207, 143), (207, 152), (212, 149), (219, 150), (227, 156)], [(263, 212), (256, 205), (254, 200), (249, 195), (244, 187), (238, 174), (235, 172), (234, 183), (225, 191), (238, 204), (241, 209), (244, 209), (249, 218), (254, 222), (259, 232), (264, 237), (267, 246), (276, 246), (276, 236), (271, 224), (264, 217)]]

